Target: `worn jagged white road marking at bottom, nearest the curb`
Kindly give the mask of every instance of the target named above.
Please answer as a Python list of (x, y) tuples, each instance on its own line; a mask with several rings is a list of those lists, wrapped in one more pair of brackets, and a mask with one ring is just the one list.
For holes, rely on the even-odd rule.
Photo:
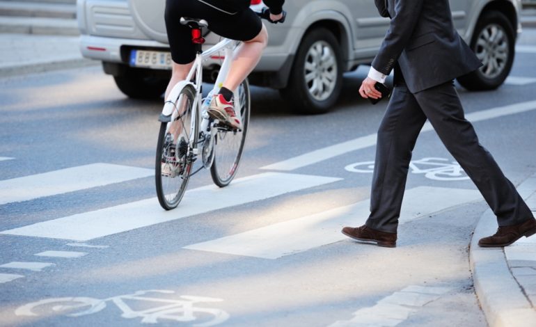
[(357, 310), (353, 319), (336, 321), (329, 327), (396, 326), (451, 289), (451, 287), (409, 286), (381, 299), (373, 307)]

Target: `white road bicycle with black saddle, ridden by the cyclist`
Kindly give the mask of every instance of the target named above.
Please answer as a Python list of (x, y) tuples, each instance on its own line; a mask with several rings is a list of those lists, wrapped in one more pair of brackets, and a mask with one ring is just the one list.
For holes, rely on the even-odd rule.
[[(197, 54), (187, 78), (171, 90), (159, 117), (155, 177), (158, 200), (166, 210), (178, 206), (189, 178), (203, 168), (210, 169), (216, 185), (223, 187), (231, 182), (244, 150), (251, 110), (246, 79), (234, 90), (235, 113), (242, 120), (242, 129), (232, 129), (209, 117), (207, 106), (226, 79), (233, 53), (240, 42), (224, 38), (202, 51), (205, 40), (201, 29), (207, 27), (207, 22), (184, 17), (180, 22), (191, 27)], [(220, 51), (224, 52), (225, 58), (214, 88), (203, 98), (203, 61)], [(193, 170), (194, 162), (199, 158), (201, 166)]]

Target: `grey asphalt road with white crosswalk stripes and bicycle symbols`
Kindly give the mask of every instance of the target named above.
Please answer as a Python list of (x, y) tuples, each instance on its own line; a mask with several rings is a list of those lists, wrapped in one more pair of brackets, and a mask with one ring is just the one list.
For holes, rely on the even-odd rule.
[[(536, 171), (534, 35), (504, 86), (459, 88), (514, 184)], [(386, 108), (358, 98), (365, 73), (326, 115), (253, 88), (237, 180), (199, 173), (172, 212), (152, 175), (161, 101), (125, 98), (96, 67), (1, 79), (1, 325), (486, 326), (468, 244), (487, 206), (448, 177), (434, 131), (413, 153), (397, 248), (340, 234), (366, 218), (372, 174), (358, 170)]]

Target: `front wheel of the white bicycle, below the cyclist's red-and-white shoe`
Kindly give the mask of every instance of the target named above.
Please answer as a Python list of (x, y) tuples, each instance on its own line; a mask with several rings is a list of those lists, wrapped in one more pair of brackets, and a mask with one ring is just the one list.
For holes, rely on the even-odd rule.
[(249, 125), (249, 113), (251, 101), (249, 95), (249, 83), (245, 79), (238, 87), (239, 111), (242, 118), (241, 130), (220, 128), (216, 134), (214, 144), (214, 162), (210, 167), (210, 175), (214, 184), (227, 186), (235, 177), (238, 169), (246, 134)]

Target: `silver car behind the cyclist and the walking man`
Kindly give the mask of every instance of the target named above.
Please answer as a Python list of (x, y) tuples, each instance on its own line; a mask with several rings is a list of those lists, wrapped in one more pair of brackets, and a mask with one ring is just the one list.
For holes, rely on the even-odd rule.
[[(254, 10), (262, 3), (252, 1)], [(258, 3), (258, 4), (253, 4)], [(160, 97), (171, 67), (164, 24), (165, 0), (78, 0), (81, 52), (102, 61), (118, 88), (134, 98)], [(484, 63), (458, 79), (470, 90), (497, 88), (510, 73), (521, 0), (450, 0), (460, 35)], [(324, 113), (336, 102), (342, 73), (369, 64), (389, 20), (372, 0), (287, 0), (285, 24), (266, 23), (269, 45), (252, 84), (281, 90), (298, 113)], [(218, 35), (205, 35), (210, 47)], [(205, 80), (218, 70), (215, 56)]]

